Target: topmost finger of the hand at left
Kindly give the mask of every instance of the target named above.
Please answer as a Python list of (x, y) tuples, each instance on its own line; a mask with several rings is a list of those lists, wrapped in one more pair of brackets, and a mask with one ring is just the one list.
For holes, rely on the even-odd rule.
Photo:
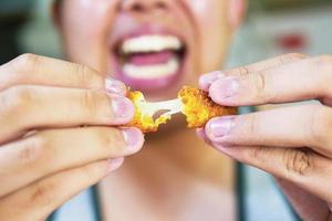
[(106, 90), (122, 95), (126, 93), (122, 82), (86, 65), (34, 54), (23, 54), (0, 66), (0, 91), (23, 84)]

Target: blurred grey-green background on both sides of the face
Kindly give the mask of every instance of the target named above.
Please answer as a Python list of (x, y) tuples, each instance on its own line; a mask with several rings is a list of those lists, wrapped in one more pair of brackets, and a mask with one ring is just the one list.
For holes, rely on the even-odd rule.
[[(0, 0), (0, 64), (24, 52), (61, 57), (50, 0)], [(332, 51), (332, 0), (249, 0), (228, 65), (289, 51)], [(271, 25), (272, 24), (272, 25)]]

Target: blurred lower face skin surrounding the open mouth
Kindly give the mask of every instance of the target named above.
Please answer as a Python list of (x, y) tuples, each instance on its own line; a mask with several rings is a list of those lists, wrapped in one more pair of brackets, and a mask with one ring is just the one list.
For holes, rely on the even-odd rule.
[[(162, 12), (157, 8), (148, 10), (158, 2), (165, 3), (166, 9)], [(143, 11), (136, 11), (136, 3), (142, 6)], [(117, 36), (131, 27), (147, 22), (181, 35), (188, 51), (184, 77), (160, 92), (146, 93), (148, 99), (159, 101), (176, 97), (184, 84), (197, 85), (201, 73), (220, 67), (243, 11), (243, 0), (72, 0), (63, 1), (54, 17), (69, 60), (115, 77), (117, 70), (110, 62), (110, 49)], [(216, 48), (219, 51), (212, 50)]]

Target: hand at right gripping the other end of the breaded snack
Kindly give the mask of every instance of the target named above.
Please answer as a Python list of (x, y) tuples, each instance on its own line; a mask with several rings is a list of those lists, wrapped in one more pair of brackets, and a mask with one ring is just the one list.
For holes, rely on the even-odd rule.
[(332, 220), (332, 55), (288, 54), (203, 75), (199, 84), (226, 106), (320, 102), (217, 117), (198, 134), (276, 176), (303, 220)]

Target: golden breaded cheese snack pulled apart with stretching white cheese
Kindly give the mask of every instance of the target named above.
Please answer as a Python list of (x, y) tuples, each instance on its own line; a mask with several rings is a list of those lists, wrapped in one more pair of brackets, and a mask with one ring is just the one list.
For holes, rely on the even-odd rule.
[[(177, 99), (166, 102), (146, 102), (144, 95), (137, 91), (129, 92), (128, 98), (135, 105), (135, 116), (127, 126), (137, 127), (143, 133), (157, 131), (158, 126), (166, 124), (176, 113), (186, 116), (188, 128), (204, 127), (212, 117), (237, 113), (237, 108), (220, 106), (211, 101), (207, 92), (190, 86), (184, 86)], [(168, 112), (154, 119), (154, 114), (160, 109)]]

